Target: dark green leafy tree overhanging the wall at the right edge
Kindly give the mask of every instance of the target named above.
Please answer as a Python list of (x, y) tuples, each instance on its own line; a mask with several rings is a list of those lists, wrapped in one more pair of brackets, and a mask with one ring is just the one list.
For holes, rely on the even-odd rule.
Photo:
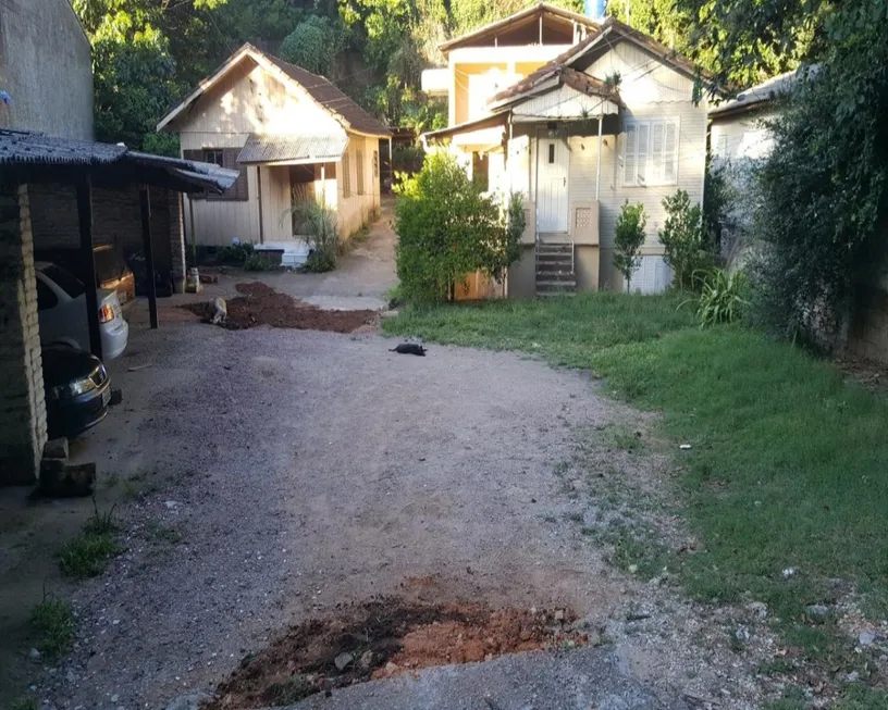
[(772, 122), (774, 150), (758, 172), (755, 314), (826, 349), (886, 264), (886, 20), (885, 0), (830, 16), (828, 50)]

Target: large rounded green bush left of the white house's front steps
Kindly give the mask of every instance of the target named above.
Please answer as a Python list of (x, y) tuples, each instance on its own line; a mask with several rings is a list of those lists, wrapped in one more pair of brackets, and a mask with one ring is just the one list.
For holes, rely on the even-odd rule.
[(511, 196), (502, 210), (454, 157), (429, 155), (396, 192), (397, 274), (408, 301), (453, 298), (456, 285), (476, 271), (502, 281), (520, 256), (521, 197)]

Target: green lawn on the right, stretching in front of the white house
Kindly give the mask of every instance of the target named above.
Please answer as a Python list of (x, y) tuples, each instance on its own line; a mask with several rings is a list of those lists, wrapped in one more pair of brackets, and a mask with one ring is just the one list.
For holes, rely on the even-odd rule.
[[(812, 662), (854, 668), (835, 620), (812, 621), (804, 608), (830, 602), (827, 581), (841, 578), (872, 618), (888, 614), (888, 400), (745, 327), (701, 331), (680, 301), (589, 294), (411, 308), (383, 328), (591, 368), (613, 395), (659, 411), (682, 512), (702, 541), (682, 564), (689, 593), (764, 601)], [(631, 432), (614, 443), (632, 450)], [(616, 556), (620, 566), (658, 557), (631, 539)], [(847, 710), (886, 707), (884, 695), (848, 698)]]

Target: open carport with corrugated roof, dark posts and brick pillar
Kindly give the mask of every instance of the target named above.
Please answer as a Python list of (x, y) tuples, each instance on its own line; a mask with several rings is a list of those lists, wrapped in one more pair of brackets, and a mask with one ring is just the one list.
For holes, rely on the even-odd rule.
[[(150, 189), (222, 192), (237, 172), (112, 146), (0, 130), (0, 485), (32, 484), (46, 444), (40, 333), (34, 272), (34, 236), (28, 185), (70, 184), (76, 189), (81, 259), (87, 285), (95, 284), (94, 185), (137, 185), (148, 274), (153, 274)], [(180, 231), (181, 223), (176, 225)], [(184, 245), (181, 247), (184, 264)], [(153, 278), (147, 279), (151, 327), (158, 327)], [(95, 288), (86, 289), (89, 340), (101, 357)]]

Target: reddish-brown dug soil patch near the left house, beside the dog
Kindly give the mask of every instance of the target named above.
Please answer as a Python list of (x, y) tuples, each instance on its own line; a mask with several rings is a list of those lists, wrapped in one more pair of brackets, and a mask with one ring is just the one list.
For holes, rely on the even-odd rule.
[[(221, 324), (230, 331), (270, 325), (275, 328), (353, 333), (362, 326), (374, 325), (379, 319), (379, 313), (370, 310), (321, 310), (260, 282), (237, 284), (235, 288), (240, 296), (226, 302), (229, 317)], [(207, 303), (185, 303), (182, 308), (207, 320), (212, 315)]]

